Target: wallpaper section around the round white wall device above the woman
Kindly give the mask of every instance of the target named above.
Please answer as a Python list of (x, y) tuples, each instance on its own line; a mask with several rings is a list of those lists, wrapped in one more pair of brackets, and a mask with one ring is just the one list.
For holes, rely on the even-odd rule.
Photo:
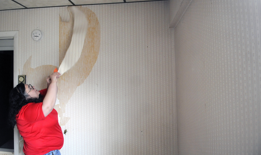
[[(42, 32), (40, 41), (31, 37), (35, 29)], [(29, 56), (32, 68), (59, 65), (58, 8), (0, 11), (0, 31), (19, 31), (19, 73)]]

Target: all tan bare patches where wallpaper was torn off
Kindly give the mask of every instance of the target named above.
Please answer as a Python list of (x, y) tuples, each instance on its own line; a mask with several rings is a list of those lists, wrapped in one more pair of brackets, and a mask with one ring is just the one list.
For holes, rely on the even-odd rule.
[[(59, 20), (59, 64), (62, 63), (66, 51), (71, 43), (74, 22), (70, 11), (71, 7), (72, 6), (68, 7), (71, 17), (69, 22), (62, 22), (61, 17)], [(72, 97), (77, 86), (80, 86), (90, 74), (94, 64), (96, 63), (100, 49), (100, 24), (96, 14), (86, 7), (73, 7), (78, 7), (81, 11), (83, 11), (86, 14), (86, 18), (89, 23), (83, 50), (78, 62), (70, 70), (64, 73), (57, 82), (57, 98), (60, 104), (55, 105), (55, 109), (61, 118), (59, 122), (61, 126), (66, 125), (70, 119), (69, 117), (64, 116), (66, 104)], [(24, 64), (23, 74), (25, 74), (28, 79), (33, 81), (33, 84), (37, 84), (37, 89), (44, 89), (46, 88), (46, 81), (43, 79), (48, 77), (54, 71), (56, 66), (42, 65), (33, 69), (31, 68), (31, 59), (32, 56), (30, 56)]]

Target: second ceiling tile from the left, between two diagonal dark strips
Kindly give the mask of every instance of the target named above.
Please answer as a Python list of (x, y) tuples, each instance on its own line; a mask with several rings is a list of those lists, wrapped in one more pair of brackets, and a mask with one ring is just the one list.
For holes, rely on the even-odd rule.
[(27, 8), (72, 5), (68, 0), (15, 0)]

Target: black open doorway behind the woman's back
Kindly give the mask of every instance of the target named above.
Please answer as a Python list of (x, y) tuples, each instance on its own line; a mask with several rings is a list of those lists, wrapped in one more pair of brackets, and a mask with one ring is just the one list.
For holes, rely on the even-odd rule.
[(14, 86), (14, 51), (0, 51), (0, 150), (14, 149), (14, 128), (8, 125), (9, 92)]

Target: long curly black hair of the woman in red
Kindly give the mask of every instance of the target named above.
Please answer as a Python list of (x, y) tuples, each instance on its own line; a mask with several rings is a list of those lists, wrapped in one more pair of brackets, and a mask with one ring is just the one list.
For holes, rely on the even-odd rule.
[(14, 87), (9, 94), (9, 124), (14, 127), (16, 124), (15, 117), (21, 110), (22, 106), (28, 103), (43, 102), (43, 97), (39, 94), (39, 98), (31, 98), (30, 95), (26, 95), (25, 84), (19, 83)]

